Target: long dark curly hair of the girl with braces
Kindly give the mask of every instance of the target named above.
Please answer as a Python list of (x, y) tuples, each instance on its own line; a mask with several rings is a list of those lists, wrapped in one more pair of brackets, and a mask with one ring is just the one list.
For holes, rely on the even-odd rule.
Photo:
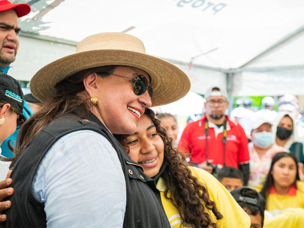
[[(164, 161), (168, 162), (162, 174), (166, 185), (164, 195), (178, 209), (182, 224), (192, 227), (217, 227), (211, 220), (208, 210), (213, 212), (216, 219), (222, 219), (223, 215), (217, 210), (215, 202), (210, 199), (207, 188), (191, 174), (185, 155), (172, 146), (172, 139), (161, 127), (161, 121), (155, 117), (154, 112), (145, 109), (144, 115), (152, 120), (164, 142)], [(127, 135), (114, 136), (126, 147)]]

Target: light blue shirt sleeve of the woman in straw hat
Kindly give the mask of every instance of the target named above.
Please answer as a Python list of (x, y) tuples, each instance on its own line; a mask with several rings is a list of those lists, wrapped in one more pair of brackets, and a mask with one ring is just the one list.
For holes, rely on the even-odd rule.
[(118, 156), (104, 136), (89, 130), (60, 138), (33, 181), (44, 202), (47, 227), (122, 227), (126, 182)]

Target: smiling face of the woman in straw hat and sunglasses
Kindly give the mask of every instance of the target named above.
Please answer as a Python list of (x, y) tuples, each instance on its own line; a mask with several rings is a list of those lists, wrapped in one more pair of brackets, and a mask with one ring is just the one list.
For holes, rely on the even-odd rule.
[(148, 81), (150, 78), (145, 71), (127, 66), (116, 67), (113, 74), (128, 78), (115, 75), (98, 77), (95, 80), (97, 89), (92, 95), (97, 97), (102, 122), (112, 134), (132, 134), (144, 108), (152, 105), (147, 91), (140, 96), (134, 94), (132, 79), (139, 75), (143, 75)]

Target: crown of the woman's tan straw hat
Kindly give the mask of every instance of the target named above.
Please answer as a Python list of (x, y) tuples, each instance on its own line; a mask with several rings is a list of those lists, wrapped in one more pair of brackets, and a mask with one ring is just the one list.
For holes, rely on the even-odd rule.
[(80, 41), (76, 52), (89, 50), (116, 49), (146, 53), (143, 42), (124, 33), (99, 33)]

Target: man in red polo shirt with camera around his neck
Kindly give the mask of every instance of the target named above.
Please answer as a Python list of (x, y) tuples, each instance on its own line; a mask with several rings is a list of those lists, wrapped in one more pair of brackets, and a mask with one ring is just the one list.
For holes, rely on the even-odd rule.
[[(195, 166), (209, 173), (213, 173), (215, 167), (239, 168), (246, 185), (249, 179), (248, 139), (240, 124), (224, 114), (229, 104), (227, 92), (213, 86), (207, 90), (205, 98), (206, 115), (186, 126), (179, 149), (189, 154)], [(223, 134), (226, 137), (223, 138)]]

